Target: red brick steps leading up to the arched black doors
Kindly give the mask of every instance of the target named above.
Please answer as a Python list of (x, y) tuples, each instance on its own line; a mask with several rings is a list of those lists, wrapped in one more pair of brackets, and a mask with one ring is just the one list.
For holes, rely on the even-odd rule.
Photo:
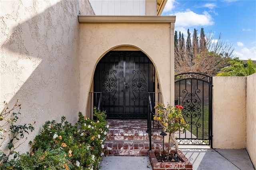
[[(104, 141), (107, 156), (147, 156), (149, 136), (146, 120), (108, 120), (110, 126)], [(163, 152), (163, 137), (160, 129), (152, 129), (151, 150)], [(167, 152), (168, 144), (164, 144)]]

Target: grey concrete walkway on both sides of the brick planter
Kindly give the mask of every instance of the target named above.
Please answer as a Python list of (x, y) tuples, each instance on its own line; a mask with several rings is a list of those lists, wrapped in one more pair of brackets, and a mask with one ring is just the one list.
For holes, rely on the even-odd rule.
[[(211, 149), (208, 146), (179, 146), (193, 170), (255, 170), (245, 149)], [(148, 156), (106, 156), (102, 170), (152, 170)]]

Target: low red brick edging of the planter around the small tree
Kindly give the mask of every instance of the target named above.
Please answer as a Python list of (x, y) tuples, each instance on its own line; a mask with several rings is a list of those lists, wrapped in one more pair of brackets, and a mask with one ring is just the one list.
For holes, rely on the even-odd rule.
[(192, 164), (180, 150), (177, 151), (177, 154), (183, 162), (158, 162), (154, 151), (148, 151), (153, 170), (193, 170)]

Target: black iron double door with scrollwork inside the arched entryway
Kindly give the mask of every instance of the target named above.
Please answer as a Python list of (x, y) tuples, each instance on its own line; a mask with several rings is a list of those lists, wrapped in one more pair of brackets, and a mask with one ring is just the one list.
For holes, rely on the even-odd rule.
[(153, 63), (142, 51), (110, 51), (102, 57), (94, 74), (94, 92), (102, 92), (107, 119), (147, 119), (154, 74)]

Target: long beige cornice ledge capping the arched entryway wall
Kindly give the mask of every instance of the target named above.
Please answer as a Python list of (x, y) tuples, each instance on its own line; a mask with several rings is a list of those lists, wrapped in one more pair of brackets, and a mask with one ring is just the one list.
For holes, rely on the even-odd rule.
[(175, 22), (176, 16), (78, 16), (79, 23), (109, 23), (109, 24), (167, 24)]

